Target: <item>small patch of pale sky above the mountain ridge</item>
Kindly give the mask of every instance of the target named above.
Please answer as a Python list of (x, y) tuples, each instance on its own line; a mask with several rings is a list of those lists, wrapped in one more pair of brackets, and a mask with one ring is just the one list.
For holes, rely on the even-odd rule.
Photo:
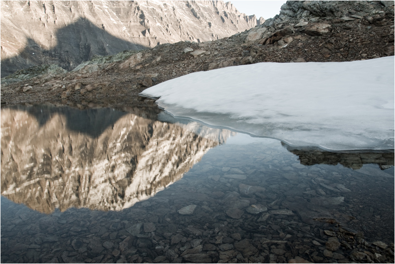
[(240, 13), (246, 15), (256, 15), (257, 18), (263, 17), (265, 19), (272, 18), (278, 15), (280, 7), (286, 1), (277, 0), (236, 0), (230, 1)]

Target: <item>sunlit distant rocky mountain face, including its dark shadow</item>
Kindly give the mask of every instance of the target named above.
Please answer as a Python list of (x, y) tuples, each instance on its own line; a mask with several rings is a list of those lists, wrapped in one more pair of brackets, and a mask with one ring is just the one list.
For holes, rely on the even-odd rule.
[(1, 76), (39, 64), (229, 37), (262, 23), (223, 1), (1, 1)]

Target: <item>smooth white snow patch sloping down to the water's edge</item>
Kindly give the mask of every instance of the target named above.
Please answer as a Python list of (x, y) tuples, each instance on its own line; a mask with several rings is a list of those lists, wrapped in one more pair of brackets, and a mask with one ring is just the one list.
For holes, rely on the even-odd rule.
[(144, 90), (175, 117), (328, 150), (394, 149), (394, 56), (262, 62)]

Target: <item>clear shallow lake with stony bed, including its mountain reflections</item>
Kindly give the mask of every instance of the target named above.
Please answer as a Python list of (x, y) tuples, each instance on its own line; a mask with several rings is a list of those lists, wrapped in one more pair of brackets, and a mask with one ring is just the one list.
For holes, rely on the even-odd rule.
[(394, 262), (393, 152), (123, 110), (1, 109), (2, 263)]

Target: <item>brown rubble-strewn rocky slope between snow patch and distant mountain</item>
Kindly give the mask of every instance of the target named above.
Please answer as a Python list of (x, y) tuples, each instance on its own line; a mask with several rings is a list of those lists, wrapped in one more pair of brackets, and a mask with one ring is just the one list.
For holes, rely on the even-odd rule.
[(394, 55), (394, 1), (288, 1), (273, 19), (229, 38), (160, 44), (120, 56), (121, 60), (114, 59), (117, 56), (92, 60), (67, 73), (17, 72), (1, 79), (1, 102), (114, 105), (140, 100), (137, 94), (145, 88), (197, 71), (390, 55)]

